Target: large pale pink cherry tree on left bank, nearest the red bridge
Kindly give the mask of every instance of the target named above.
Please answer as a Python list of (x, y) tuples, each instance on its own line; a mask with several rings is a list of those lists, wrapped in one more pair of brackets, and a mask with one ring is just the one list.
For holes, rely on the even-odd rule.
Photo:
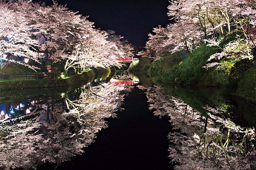
[(50, 52), (53, 62), (66, 61), (65, 70), (78, 67), (83, 71), (91, 66), (120, 65), (114, 61), (116, 57), (131, 55), (132, 49), (127, 48), (126, 42), (108, 41), (107, 32), (94, 29), (93, 22), (87, 21), (87, 17), (68, 11), (57, 2), (40, 9), (39, 13), (38, 22), (43, 23), (39, 30), (46, 39), (42, 49)]

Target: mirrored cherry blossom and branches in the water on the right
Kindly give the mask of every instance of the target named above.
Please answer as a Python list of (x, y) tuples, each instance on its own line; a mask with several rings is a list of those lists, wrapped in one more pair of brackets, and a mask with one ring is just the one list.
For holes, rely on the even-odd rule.
[(170, 158), (176, 169), (255, 169), (255, 131), (215, 116), (225, 112), (205, 105), (207, 116), (180, 99), (167, 95), (160, 87), (146, 89), (150, 109), (170, 117), (176, 132), (169, 134)]

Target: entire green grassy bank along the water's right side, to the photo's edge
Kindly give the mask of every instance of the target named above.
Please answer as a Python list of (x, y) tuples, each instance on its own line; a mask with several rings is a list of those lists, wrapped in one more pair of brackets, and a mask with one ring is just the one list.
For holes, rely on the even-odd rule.
[[(234, 40), (235, 37), (227, 37), (220, 44), (224, 46)], [(177, 54), (168, 54), (161, 60), (155, 60), (148, 64), (141, 62), (135, 71), (145, 71), (156, 84), (172, 83), (181, 85), (193, 85), (203, 87), (225, 87), (229, 94), (256, 103), (256, 66), (250, 60), (241, 60), (232, 68), (224, 70), (203, 66), (212, 54), (220, 52), (216, 46), (202, 44), (183, 60), (178, 60)], [(181, 57), (181, 56), (180, 56)]]

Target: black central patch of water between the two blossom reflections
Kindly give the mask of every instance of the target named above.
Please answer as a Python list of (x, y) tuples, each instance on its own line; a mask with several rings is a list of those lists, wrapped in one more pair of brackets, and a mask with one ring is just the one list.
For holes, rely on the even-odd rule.
[(97, 134), (95, 142), (84, 153), (69, 162), (45, 164), (39, 170), (64, 169), (168, 169), (173, 166), (168, 157), (169, 118), (154, 116), (148, 110), (144, 92), (135, 87), (125, 97), (125, 110), (117, 118), (107, 119), (109, 127)]

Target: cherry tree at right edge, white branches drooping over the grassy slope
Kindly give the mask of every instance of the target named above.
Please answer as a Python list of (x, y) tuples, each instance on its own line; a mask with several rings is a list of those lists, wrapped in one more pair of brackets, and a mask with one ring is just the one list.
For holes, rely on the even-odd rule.
[(218, 46), (222, 52), (213, 54), (208, 61), (215, 60), (216, 62), (209, 62), (206, 68), (214, 67), (217, 69), (224, 68), (226, 65), (233, 65), (241, 59), (256, 60), (256, 33), (255, 33), (255, 16), (256, 9), (251, 6), (249, 2), (240, 3), (236, 6), (236, 11), (233, 11), (237, 32), (237, 40), (226, 44), (224, 48), (220, 48), (221, 41), (209, 41), (209, 45)]

